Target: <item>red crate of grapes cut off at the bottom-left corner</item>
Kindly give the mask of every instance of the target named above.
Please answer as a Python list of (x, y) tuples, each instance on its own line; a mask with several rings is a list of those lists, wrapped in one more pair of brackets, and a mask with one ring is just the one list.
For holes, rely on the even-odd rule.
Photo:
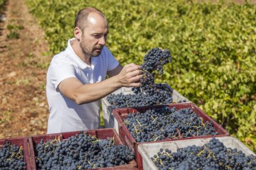
[(0, 139), (0, 169), (32, 169), (28, 139)]

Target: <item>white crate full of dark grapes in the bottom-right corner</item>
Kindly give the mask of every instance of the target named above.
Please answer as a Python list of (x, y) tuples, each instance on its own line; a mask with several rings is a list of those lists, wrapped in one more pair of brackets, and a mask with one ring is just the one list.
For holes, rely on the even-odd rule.
[(255, 169), (256, 155), (234, 137), (141, 144), (143, 169)]

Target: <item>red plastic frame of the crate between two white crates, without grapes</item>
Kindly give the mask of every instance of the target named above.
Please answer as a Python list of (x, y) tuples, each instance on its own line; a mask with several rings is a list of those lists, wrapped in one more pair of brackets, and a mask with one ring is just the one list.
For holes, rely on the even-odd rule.
[(114, 117), (117, 120), (118, 123), (118, 129), (119, 129), (119, 136), (121, 139), (126, 142), (126, 144), (132, 148), (135, 152), (135, 160), (137, 161), (138, 167), (142, 168), (142, 157), (140, 156), (139, 152), (137, 152), (137, 148), (139, 144), (145, 144), (145, 143), (152, 143), (152, 142), (136, 142), (134, 137), (132, 137), (132, 134), (128, 131), (127, 127), (124, 124), (124, 121), (122, 121), (122, 118), (127, 118), (128, 113), (137, 113), (138, 111), (140, 113), (144, 113), (148, 108), (159, 108), (159, 107), (169, 107), (173, 108), (176, 107), (177, 110), (181, 110), (182, 108), (189, 108), (192, 109), (197, 116), (201, 117), (203, 119), (203, 123), (205, 121), (212, 121), (213, 127), (216, 132), (218, 132), (218, 135), (216, 136), (195, 136), (195, 137), (187, 137), (187, 138), (181, 138), (181, 139), (168, 139), (165, 140), (157, 140), (155, 142), (163, 142), (163, 141), (170, 141), (170, 140), (182, 140), (182, 139), (198, 139), (198, 138), (208, 138), (208, 137), (221, 137), (221, 136), (229, 136), (229, 133), (221, 127), (220, 124), (216, 123), (213, 119), (211, 119), (206, 113), (204, 113), (200, 108), (198, 108), (194, 103), (179, 103), (179, 104), (169, 104), (169, 105), (158, 105), (158, 106), (149, 106), (149, 107), (137, 107), (137, 108), (116, 108), (113, 110)]

